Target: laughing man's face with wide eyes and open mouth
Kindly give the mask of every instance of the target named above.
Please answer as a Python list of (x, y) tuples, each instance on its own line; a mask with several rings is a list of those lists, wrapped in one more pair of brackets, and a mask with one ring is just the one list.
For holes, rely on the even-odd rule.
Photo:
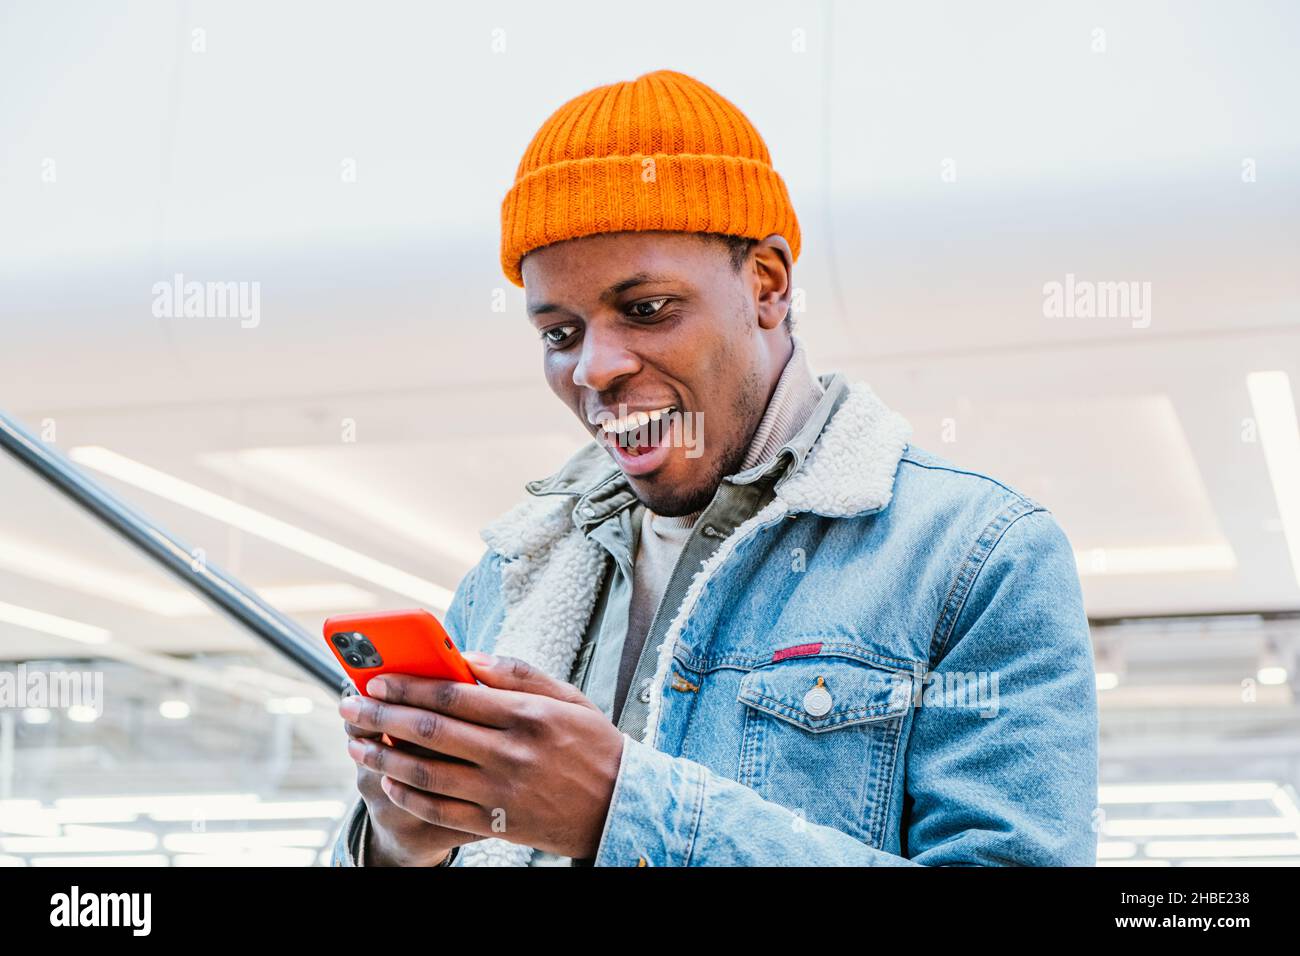
[(653, 511), (705, 507), (775, 381), (757, 272), (736, 272), (719, 242), (638, 232), (534, 250), (523, 274), (551, 390)]

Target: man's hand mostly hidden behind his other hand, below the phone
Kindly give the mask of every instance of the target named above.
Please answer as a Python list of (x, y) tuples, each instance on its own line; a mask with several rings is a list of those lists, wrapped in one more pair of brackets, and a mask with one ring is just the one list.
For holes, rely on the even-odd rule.
[[(354, 695), (355, 696), (355, 695)], [(360, 697), (358, 697), (360, 700)], [(342, 710), (342, 708), (341, 708)], [(344, 723), (347, 752), (356, 763), (356, 788), (365, 801), (369, 817), (365, 862), (369, 866), (436, 866), (452, 847), (482, 839), (459, 830), (434, 826), (413, 817), (394, 804), (386, 792), (384, 777), (361, 762), (368, 744), (381, 735)]]

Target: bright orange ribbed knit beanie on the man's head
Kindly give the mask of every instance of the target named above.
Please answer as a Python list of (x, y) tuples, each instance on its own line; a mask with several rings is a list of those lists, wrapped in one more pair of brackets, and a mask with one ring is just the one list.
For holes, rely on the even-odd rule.
[(523, 286), (534, 248), (642, 229), (777, 233), (800, 258), (800, 224), (758, 130), (675, 70), (590, 90), (542, 124), (500, 204), (502, 269)]

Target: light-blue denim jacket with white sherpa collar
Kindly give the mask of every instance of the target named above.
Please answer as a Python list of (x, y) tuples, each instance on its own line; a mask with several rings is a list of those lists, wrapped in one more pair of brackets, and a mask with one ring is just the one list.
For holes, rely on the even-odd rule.
[[(676, 609), (594, 864), (1095, 865), (1097, 698), (1065, 533), (910, 445), (864, 384), (823, 382), (775, 497)], [(445, 620), (462, 648), (568, 678), (603, 572), (584, 501), (618, 480), (551, 481), (485, 529)], [(532, 853), (493, 838), (452, 866)]]

